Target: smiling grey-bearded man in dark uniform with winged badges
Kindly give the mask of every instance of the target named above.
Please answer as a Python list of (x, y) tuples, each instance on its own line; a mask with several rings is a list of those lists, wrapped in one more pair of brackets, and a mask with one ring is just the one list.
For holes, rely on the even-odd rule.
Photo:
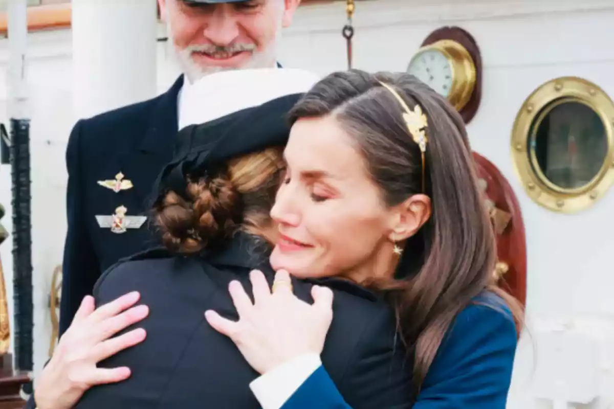
[(69, 137), (60, 335), (101, 272), (157, 243), (146, 199), (173, 158), (192, 83), (227, 69), (276, 66), (278, 27), (290, 24), (299, 1), (158, 0), (184, 75), (149, 101), (77, 121)]

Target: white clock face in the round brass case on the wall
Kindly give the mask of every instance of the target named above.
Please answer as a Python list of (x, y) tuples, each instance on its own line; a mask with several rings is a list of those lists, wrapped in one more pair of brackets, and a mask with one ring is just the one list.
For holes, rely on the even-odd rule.
[(416, 55), (407, 72), (445, 97), (452, 89), (452, 66), (448, 58), (437, 50), (425, 50)]

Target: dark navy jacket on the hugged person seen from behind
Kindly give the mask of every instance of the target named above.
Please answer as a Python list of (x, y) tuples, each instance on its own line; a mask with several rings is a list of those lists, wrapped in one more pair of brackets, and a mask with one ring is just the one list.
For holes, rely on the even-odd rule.
[[(148, 251), (105, 272), (94, 290), (96, 305), (141, 292), (149, 316), (125, 331), (142, 327), (147, 338), (99, 364), (130, 367), (128, 380), (89, 389), (75, 408), (260, 408), (249, 389), (258, 373), (204, 319), (208, 309), (237, 319), (228, 293), (231, 280), (241, 281), (250, 294), (253, 268), (272, 281), (273, 271), (268, 263), (255, 262), (251, 244), (238, 235), (227, 248), (202, 257)], [(346, 402), (354, 409), (410, 408), (411, 370), (397, 345), (392, 311), (356, 285), (327, 282), (335, 292), (334, 318), (322, 361)], [(313, 302), (311, 284), (295, 280), (293, 287), (298, 297)]]

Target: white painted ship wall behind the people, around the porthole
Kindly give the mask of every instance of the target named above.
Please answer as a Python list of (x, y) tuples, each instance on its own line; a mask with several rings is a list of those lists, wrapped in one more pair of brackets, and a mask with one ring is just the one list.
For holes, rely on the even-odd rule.
[[(467, 29), (481, 47), (483, 100), (469, 126), (470, 139), (476, 151), (499, 166), (518, 194), (528, 241), (531, 336), (525, 336), (519, 347), (508, 407), (550, 408), (550, 403), (535, 399), (540, 396), (587, 402), (594, 397), (590, 405), (578, 407), (614, 407), (614, 189), (583, 213), (548, 212), (524, 194), (509, 150), (511, 126), (519, 107), (551, 78), (584, 77), (614, 97), (614, 0), (428, 3), (358, 2), (354, 66), (368, 71), (403, 71), (424, 37), (443, 25)], [(282, 40), (281, 63), (322, 75), (345, 69), (345, 42), (340, 34), (344, 23), (343, 2), (302, 7)], [(29, 41), (35, 164), (35, 356), (40, 369), (49, 345), (50, 275), (61, 262), (66, 229), (64, 148), (73, 121), (71, 32), (36, 33)], [(5, 105), (6, 53), (6, 41), (0, 41), (0, 104)], [(166, 90), (176, 75), (171, 53), (160, 43), (158, 91)], [(0, 120), (4, 120), (1, 108)], [(10, 207), (6, 166), (0, 169), (0, 201)], [(9, 221), (10, 213), (5, 225)], [(12, 300), (10, 244), (3, 245), (0, 253)], [(564, 357), (553, 354), (557, 351)]]

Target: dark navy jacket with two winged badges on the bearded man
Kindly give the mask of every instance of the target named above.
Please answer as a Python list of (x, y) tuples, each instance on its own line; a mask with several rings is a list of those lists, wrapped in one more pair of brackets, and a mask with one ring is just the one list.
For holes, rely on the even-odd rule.
[[(60, 335), (101, 273), (119, 259), (156, 245), (147, 222), (122, 234), (99, 227), (96, 215), (124, 206), (138, 215), (162, 167), (173, 158), (177, 95), (183, 77), (165, 94), (74, 126), (66, 150), (68, 234), (64, 244)], [(98, 185), (122, 172), (133, 187), (114, 193)], [(147, 220), (149, 221), (149, 220)]]

